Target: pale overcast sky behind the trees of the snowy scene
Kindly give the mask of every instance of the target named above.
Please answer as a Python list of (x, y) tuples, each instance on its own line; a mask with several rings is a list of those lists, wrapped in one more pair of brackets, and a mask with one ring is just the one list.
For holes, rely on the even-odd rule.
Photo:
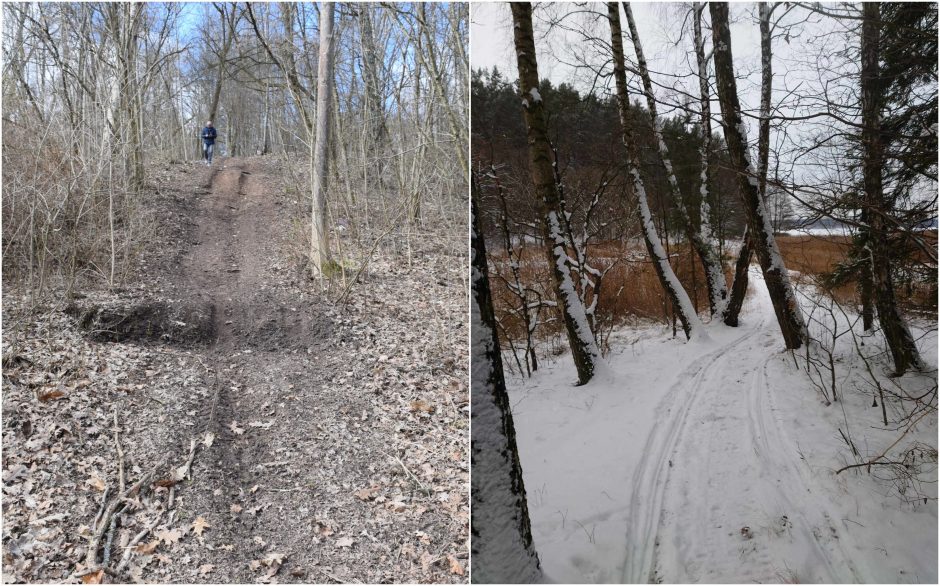
[[(657, 99), (667, 104), (685, 101), (698, 110), (698, 80), (692, 77), (696, 72), (695, 56), (692, 53), (692, 25), (690, 20), (691, 3), (631, 3), (637, 28), (643, 45), (643, 52), (653, 78)], [(738, 94), (742, 108), (757, 115), (760, 103), (760, 30), (757, 23), (756, 4), (732, 3), (731, 5), (731, 45), (734, 56), (735, 73), (738, 76)], [(840, 10), (835, 5), (827, 8)], [(606, 20), (604, 3), (576, 5), (574, 3), (536, 4), (533, 22), (536, 35), (539, 75), (553, 83), (567, 82), (581, 92), (594, 91), (598, 95), (612, 93), (613, 80), (610, 76), (598, 78), (595, 70), (604, 66), (610, 59), (602, 54), (597, 45), (584, 39), (582, 31), (606, 39), (610, 42), (610, 29)], [(774, 13), (774, 19), (784, 14), (780, 6)], [(601, 17), (598, 17), (600, 13)], [(561, 18), (568, 14), (567, 17)], [(507, 80), (518, 77), (515, 54), (512, 48), (512, 14), (505, 3), (474, 3), (470, 12), (471, 66), (474, 69), (496, 66)], [(550, 22), (559, 25), (549, 26)], [(706, 38), (706, 51), (711, 50), (711, 27), (708, 11), (705, 11), (706, 26), (703, 34)], [(844, 27), (853, 27), (857, 21), (836, 21), (835, 19), (812, 14), (803, 8), (786, 12), (780, 26), (775, 29), (773, 40), (773, 102), (779, 106), (780, 114), (804, 115), (818, 112), (820, 109), (819, 89), (824, 83), (841, 78), (837, 84), (840, 91), (848, 92), (847, 103), (857, 100), (857, 68), (844, 60), (832, 60), (830, 56), (847, 44), (855, 42), (856, 35), (845, 35)], [(621, 9), (621, 24), (624, 30), (624, 50), (628, 62), (636, 62), (633, 44), (629, 37), (626, 17)], [(840, 71), (827, 70), (838, 65)], [(609, 72), (609, 65), (606, 67)], [(639, 81), (628, 74), (628, 81), (634, 92), (633, 100), (641, 100), (636, 92)], [(798, 92), (788, 93), (788, 89), (797, 88)], [(678, 90), (678, 91), (677, 91)], [(683, 98), (682, 93), (690, 94)], [(854, 95), (853, 95), (854, 94)], [(795, 99), (795, 95), (804, 97)], [(712, 93), (712, 114), (720, 116), (717, 97)], [(660, 105), (660, 114), (669, 116), (674, 110)], [(748, 135), (753, 141), (757, 136), (757, 124), (754, 118), (745, 118)], [(828, 124), (828, 121), (825, 122)], [(812, 137), (831, 133), (823, 127), (824, 122), (807, 121), (793, 123), (786, 132), (773, 131), (771, 150), (781, 153), (781, 177), (792, 174), (800, 182), (825, 184), (832, 180), (831, 165), (814, 165), (806, 157), (798, 160), (800, 143), (812, 140)], [(718, 120), (713, 122), (713, 130), (720, 132)], [(753, 143), (752, 143), (753, 145)], [(842, 147), (839, 147), (842, 148)], [(774, 169), (774, 159), (771, 160)]]

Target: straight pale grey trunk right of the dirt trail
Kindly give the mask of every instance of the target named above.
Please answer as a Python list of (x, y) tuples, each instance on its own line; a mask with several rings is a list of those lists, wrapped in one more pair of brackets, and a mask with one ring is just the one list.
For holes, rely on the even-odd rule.
[(327, 157), (330, 144), (330, 102), (333, 99), (333, 10), (324, 2), (320, 8), (320, 55), (317, 64), (317, 127), (312, 145), (313, 205), (311, 209), (310, 262), (315, 277), (323, 277), (330, 262), (330, 240), (326, 229)]

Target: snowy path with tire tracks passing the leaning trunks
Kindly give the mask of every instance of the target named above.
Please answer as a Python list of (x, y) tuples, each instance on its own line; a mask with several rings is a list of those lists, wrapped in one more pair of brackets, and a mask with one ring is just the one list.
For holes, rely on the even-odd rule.
[[(747, 338), (772, 351), (773, 334)], [(642, 559), (650, 574), (628, 581), (859, 580), (822, 506), (826, 495), (813, 498), (799, 448), (777, 419), (766, 381), (772, 356), (754, 363), (753, 353), (723, 353), (721, 368), (697, 385), (684, 418), (691, 423), (669, 454), (661, 525), (655, 539), (640, 540), (658, 544), (656, 565)]]

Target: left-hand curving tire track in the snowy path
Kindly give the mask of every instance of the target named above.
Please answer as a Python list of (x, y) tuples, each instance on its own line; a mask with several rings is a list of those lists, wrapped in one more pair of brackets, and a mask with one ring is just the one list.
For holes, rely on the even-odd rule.
[[(627, 528), (627, 556), (621, 572), (623, 582), (649, 582), (655, 569), (654, 554), (663, 496), (669, 476), (669, 459), (682, 435), (702, 381), (731, 352), (762, 332), (764, 320), (730, 344), (694, 360), (669, 388), (656, 407), (657, 418), (665, 419), (646, 438), (643, 455), (633, 475), (630, 521)], [(675, 415), (669, 415), (675, 410)], [(668, 419), (667, 419), (668, 418)]]

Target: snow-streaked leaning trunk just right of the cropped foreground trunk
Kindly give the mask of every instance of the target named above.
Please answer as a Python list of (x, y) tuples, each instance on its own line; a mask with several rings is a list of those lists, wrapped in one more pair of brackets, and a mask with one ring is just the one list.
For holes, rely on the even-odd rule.
[(578, 383), (585, 384), (594, 376), (601, 358), (587, 321), (584, 304), (581, 303), (571, 279), (565, 235), (558, 218), (558, 185), (552, 170), (552, 149), (548, 141), (542, 96), (538, 90), (539, 74), (535, 58), (535, 39), (532, 35), (532, 6), (524, 2), (512, 3), (510, 6), (522, 90), (522, 111), (528, 131), (529, 167), (539, 214), (542, 217), (542, 237), (555, 280), (558, 307), (565, 321), (571, 356), (578, 370)]

